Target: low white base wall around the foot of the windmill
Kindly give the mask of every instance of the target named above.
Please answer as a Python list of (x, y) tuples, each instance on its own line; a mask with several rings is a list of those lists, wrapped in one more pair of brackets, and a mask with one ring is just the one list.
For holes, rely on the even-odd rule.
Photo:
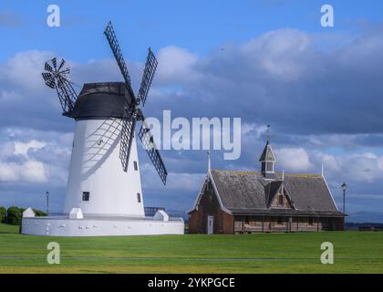
[(157, 221), (150, 218), (84, 218), (35, 217), (23, 218), (23, 235), (49, 236), (122, 236), (122, 235), (183, 235), (181, 218)]

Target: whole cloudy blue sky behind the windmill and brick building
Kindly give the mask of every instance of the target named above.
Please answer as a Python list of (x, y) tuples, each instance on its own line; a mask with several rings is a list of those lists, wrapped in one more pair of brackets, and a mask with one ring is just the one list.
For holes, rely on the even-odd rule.
[[(60, 27), (47, 26), (47, 6)], [(333, 5), (335, 26), (320, 24)], [(0, 205), (60, 212), (74, 120), (61, 116), (40, 73), (65, 57), (78, 84), (119, 81), (103, 30), (113, 22), (133, 88), (148, 47), (159, 60), (147, 117), (242, 119), (242, 153), (212, 167), (258, 171), (266, 125), (276, 170), (321, 172), (338, 207), (383, 214), (383, 3), (378, 1), (0, 2)], [(206, 174), (206, 151), (161, 151), (164, 187), (144, 151), (146, 205), (190, 210)]]

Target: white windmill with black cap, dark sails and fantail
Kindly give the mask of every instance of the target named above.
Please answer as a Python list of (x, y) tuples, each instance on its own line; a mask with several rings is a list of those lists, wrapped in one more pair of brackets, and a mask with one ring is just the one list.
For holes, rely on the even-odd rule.
[[(168, 174), (140, 110), (140, 104), (144, 106), (148, 97), (158, 65), (157, 60), (149, 48), (140, 91), (136, 97), (110, 22), (104, 34), (125, 82), (88, 83), (77, 95), (68, 78), (70, 69), (64, 68), (64, 59), (59, 65), (57, 58), (45, 65), (43, 78), (48, 87), (57, 90), (63, 115), (76, 120), (64, 214), (71, 214), (74, 219), (91, 221), (88, 226), (82, 226), (73, 224), (76, 221), (63, 219), (61, 226), (64, 225), (67, 231), (61, 233), (52, 227), (52, 222), (47, 223), (46, 227), (50, 234), (53, 232), (55, 235), (183, 233), (183, 221), (181, 224), (180, 220), (169, 221), (169, 216), (160, 212), (153, 222), (149, 222), (144, 214), (140, 164), (134, 134), (138, 121), (141, 122), (138, 136), (162, 183), (166, 184)], [(114, 229), (110, 224), (112, 220), (115, 220)], [(162, 221), (161, 225), (155, 224), (158, 220)], [(82, 223), (84, 221), (79, 224)], [(123, 231), (116, 231), (118, 227), (115, 224), (122, 224), (120, 227)], [(31, 228), (28, 224), (24, 226), (23, 222), (23, 231), (28, 227)], [(125, 227), (130, 230), (125, 230)], [(78, 228), (84, 231), (78, 231)]]

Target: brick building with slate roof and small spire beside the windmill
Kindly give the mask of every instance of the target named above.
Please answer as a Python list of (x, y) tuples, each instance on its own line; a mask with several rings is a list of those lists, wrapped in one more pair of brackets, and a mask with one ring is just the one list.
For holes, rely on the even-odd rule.
[(274, 172), (269, 141), (259, 162), (261, 172), (209, 167), (189, 213), (191, 234), (343, 230), (344, 214), (337, 210), (323, 173)]

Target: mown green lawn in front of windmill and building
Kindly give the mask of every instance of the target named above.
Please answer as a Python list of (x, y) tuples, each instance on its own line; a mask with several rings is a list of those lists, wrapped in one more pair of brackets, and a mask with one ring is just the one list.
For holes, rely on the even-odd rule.
[[(383, 233), (46, 237), (0, 224), (0, 273), (383, 273)], [(14, 233), (14, 234), (12, 234)], [(47, 243), (61, 264), (47, 264)], [(331, 242), (335, 264), (320, 263)]]

